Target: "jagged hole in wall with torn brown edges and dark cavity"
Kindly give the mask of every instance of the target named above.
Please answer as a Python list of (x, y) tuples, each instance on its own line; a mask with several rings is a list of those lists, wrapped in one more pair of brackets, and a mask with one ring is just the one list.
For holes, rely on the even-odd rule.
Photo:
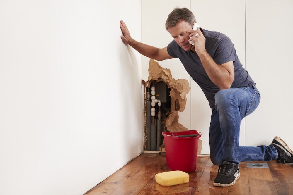
[[(157, 127), (157, 121), (158, 121), (158, 107), (159, 105), (154, 106), (155, 108), (155, 115), (150, 116), (150, 114), (147, 113), (149, 109), (151, 109), (150, 101), (151, 101), (151, 87), (155, 87), (155, 94), (153, 99), (156, 100), (164, 99), (166, 98), (165, 105), (162, 104), (161, 101), (161, 127), (160, 130), (156, 130), (157, 139), (160, 135), (160, 146), (163, 144), (163, 136), (161, 135), (161, 132), (164, 131), (170, 131), (170, 132), (179, 132), (179, 131), (187, 131), (188, 129), (184, 127), (182, 124), (179, 123), (179, 115), (178, 112), (182, 112), (185, 109), (186, 105), (186, 94), (189, 93), (190, 87), (189, 82), (186, 79), (174, 79), (172, 77), (170, 69), (163, 68), (159, 65), (158, 62), (154, 61), (153, 59), (150, 59), (149, 61), (149, 77), (148, 81), (145, 82), (142, 80), (142, 83), (144, 84), (144, 119), (145, 119), (145, 139), (144, 139), (144, 150), (156, 150), (160, 151), (158, 147), (156, 149), (154, 146), (150, 145), (150, 142), (154, 142), (152, 140), (156, 139), (154, 136), (154, 133), (152, 133), (152, 136), (150, 135), (150, 124)], [(158, 89), (156, 89), (158, 88)], [(147, 94), (149, 92), (149, 100), (147, 97)], [(169, 93), (169, 94), (168, 94)], [(157, 96), (156, 96), (157, 95)], [(161, 97), (161, 98), (160, 98)], [(168, 104), (168, 105), (167, 105)], [(165, 109), (166, 108), (166, 109)], [(165, 118), (166, 116), (166, 118)], [(154, 122), (155, 120), (155, 122)], [(156, 124), (155, 124), (156, 123)], [(153, 130), (154, 131), (154, 130)], [(158, 133), (159, 132), (159, 133)], [(151, 141), (150, 141), (151, 140)], [(159, 143), (158, 141), (156, 142)], [(202, 142), (199, 141), (199, 153), (201, 151)]]

